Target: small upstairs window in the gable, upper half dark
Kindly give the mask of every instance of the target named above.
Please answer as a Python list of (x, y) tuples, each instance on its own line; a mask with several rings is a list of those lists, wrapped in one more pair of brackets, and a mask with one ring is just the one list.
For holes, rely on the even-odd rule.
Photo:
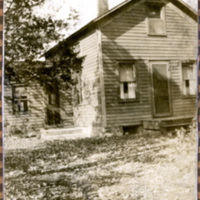
[(148, 4), (148, 34), (165, 35), (164, 7), (160, 4)]

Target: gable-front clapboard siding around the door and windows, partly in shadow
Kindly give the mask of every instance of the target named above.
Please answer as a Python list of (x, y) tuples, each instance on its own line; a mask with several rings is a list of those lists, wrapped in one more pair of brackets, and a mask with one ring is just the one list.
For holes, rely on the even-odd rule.
[[(196, 60), (197, 23), (165, 5), (166, 36), (148, 36), (145, 4), (132, 5), (102, 26), (103, 69), (107, 125), (127, 126), (152, 118), (150, 61), (168, 61), (173, 116), (194, 115), (196, 98), (183, 98), (181, 61)], [(118, 61), (134, 60), (139, 101), (119, 102)]]

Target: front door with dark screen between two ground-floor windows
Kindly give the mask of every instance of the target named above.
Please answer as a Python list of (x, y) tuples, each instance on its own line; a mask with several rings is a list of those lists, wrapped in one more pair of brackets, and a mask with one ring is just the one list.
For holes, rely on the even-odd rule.
[(170, 77), (167, 62), (152, 62), (153, 115), (165, 117), (171, 115)]

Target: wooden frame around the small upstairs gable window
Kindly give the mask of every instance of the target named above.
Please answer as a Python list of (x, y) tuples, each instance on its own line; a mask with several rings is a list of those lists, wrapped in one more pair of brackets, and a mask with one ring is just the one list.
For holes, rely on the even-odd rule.
[[(150, 33), (150, 30), (149, 30), (149, 26), (150, 26), (150, 20), (152, 19), (156, 19), (156, 18), (150, 18), (149, 17), (149, 6), (159, 6), (160, 7), (160, 20), (163, 21), (163, 33), (162, 34), (159, 34), (159, 33)], [(147, 35), (148, 36), (161, 36), (161, 37), (166, 37), (167, 36), (167, 31), (166, 31), (166, 20), (165, 20), (165, 5), (162, 4), (162, 3), (151, 3), (151, 2), (148, 2), (146, 3), (146, 13), (147, 13), (147, 22), (146, 22), (146, 25), (147, 25)]]

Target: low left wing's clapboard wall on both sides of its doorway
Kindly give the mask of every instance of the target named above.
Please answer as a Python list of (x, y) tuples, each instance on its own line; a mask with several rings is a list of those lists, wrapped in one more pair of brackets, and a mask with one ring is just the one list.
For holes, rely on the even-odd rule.
[[(39, 133), (41, 128), (51, 128), (46, 125), (46, 104), (47, 95), (39, 84), (31, 84), (27, 87), (28, 112), (13, 113), (12, 87), (4, 85), (4, 115), (6, 134), (12, 130), (20, 129), (22, 132), (28, 126), (29, 131)], [(60, 127), (73, 126), (73, 108), (71, 101), (71, 91), (60, 92)]]

